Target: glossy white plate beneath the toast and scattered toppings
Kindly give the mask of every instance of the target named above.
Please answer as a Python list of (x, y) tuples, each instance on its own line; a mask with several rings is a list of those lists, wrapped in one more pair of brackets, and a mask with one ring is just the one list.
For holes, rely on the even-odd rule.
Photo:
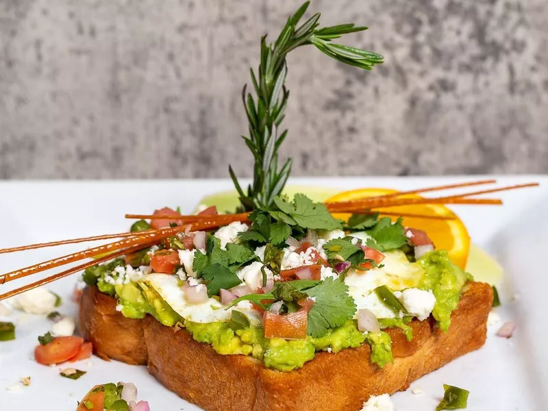
[[(476, 176), (473, 179), (482, 177)], [(343, 189), (366, 186), (417, 188), (459, 182), (469, 177), (436, 178), (317, 178), (293, 179), (291, 184), (329, 186)], [(434, 373), (419, 379), (423, 395), (411, 390), (397, 393), (393, 401), (399, 411), (434, 410), (443, 395), (442, 384), (452, 384), (471, 391), (469, 411), (478, 410), (545, 410), (548, 396), (548, 178), (540, 176), (501, 177), (501, 184), (540, 181), (536, 189), (502, 193), (503, 207), (460, 206), (454, 209), (462, 217), (473, 240), (497, 257), (506, 269), (499, 291), (503, 306), (497, 308), (503, 321), (512, 319), (518, 329), (510, 340), (497, 338), (497, 327), (490, 327), (486, 345)], [(223, 180), (177, 180), (132, 182), (1, 182), (0, 247), (13, 247), (34, 242), (125, 231), (126, 212), (148, 213), (160, 206), (181, 206), (190, 211), (203, 195), (232, 188)], [(497, 196), (498, 197), (498, 196)], [(0, 256), (0, 273), (71, 253), (88, 245), (39, 249)], [(36, 278), (33, 277), (33, 281)], [(51, 290), (64, 298), (60, 311), (75, 315), (76, 306), (69, 302), (75, 277), (51, 285)], [(0, 286), (0, 292), (20, 286), (13, 282)], [(517, 299), (513, 299), (513, 296)], [(147, 399), (153, 411), (198, 410), (153, 379), (144, 366), (105, 362), (92, 357), (77, 363), (88, 371), (77, 381), (58, 375), (58, 367), (36, 364), (33, 349), (36, 337), (49, 329), (40, 316), (14, 313), (7, 318), (16, 323), (17, 338), (0, 343), (0, 408), (1, 410), (42, 411), (75, 410), (95, 384), (134, 382), (139, 398)], [(20, 377), (32, 377), (23, 393), (12, 393), (5, 387)]]

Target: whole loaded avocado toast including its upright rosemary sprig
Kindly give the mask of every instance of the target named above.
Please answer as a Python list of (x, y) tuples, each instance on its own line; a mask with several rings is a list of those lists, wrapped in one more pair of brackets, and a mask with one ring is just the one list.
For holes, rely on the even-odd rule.
[[(332, 42), (366, 27), (318, 29), (319, 14), (297, 26), (307, 7), (272, 45), (262, 38), (257, 75), (251, 70), (256, 100), (242, 92), (255, 166), (247, 190), (229, 168), (234, 219), (197, 229), (215, 219), (215, 206), (195, 220), (156, 210), (132, 232), (184, 231), (84, 273), (80, 327), (97, 354), (148, 364), (206, 410), (357, 410), (485, 340), (490, 286), (473, 282), (427, 233), (368, 203), (282, 194), (291, 167), (277, 164), (286, 54), (309, 44), (361, 69), (382, 63)], [(352, 214), (338, 219), (338, 211)]]

